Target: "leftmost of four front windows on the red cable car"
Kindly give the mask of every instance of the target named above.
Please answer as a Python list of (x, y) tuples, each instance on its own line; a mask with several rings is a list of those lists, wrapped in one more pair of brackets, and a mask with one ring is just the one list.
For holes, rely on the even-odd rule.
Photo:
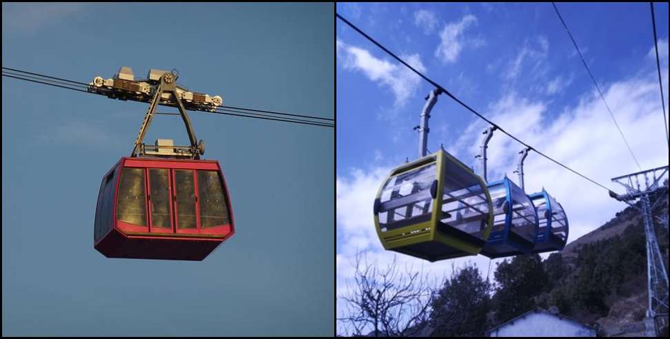
[(144, 194), (144, 169), (121, 170), (116, 218), (134, 225), (146, 224), (147, 203)]

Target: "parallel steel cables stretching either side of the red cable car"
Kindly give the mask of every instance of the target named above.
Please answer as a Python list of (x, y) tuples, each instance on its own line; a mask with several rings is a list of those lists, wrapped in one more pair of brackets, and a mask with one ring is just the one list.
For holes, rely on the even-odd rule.
[[(10, 68), (7, 68), (7, 69), (10, 69)], [(19, 72), (23, 72), (23, 71), (19, 71)], [(42, 74), (37, 74), (37, 73), (32, 73), (32, 72), (26, 72), (26, 73), (43, 76)], [(84, 92), (84, 93), (88, 93), (88, 94), (95, 94), (95, 93), (88, 92), (88, 90), (83, 90), (81, 88), (73, 88), (74, 86), (77, 86), (77, 85), (74, 85), (74, 84), (70, 85), (70, 84), (65, 84), (65, 83), (62, 82), (62, 81), (68, 81), (67, 79), (62, 79), (62, 81), (56, 81), (56, 80), (50, 80), (50, 79), (41, 79), (41, 78), (38, 78), (36, 76), (29, 76), (29, 75), (25, 75), (25, 74), (15, 74), (13, 72), (6, 72), (6, 71), (3, 71), (2, 76), (8, 76), (10, 78), (30, 81), (30, 82), (34, 82), (34, 83), (41, 83), (41, 84), (44, 84), (44, 85), (51, 85), (51, 86), (55, 86), (55, 87), (59, 87), (59, 88), (65, 88), (65, 89), (68, 89), (68, 90), (76, 90), (76, 91)], [(61, 79), (61, 78), (56, 78), (54, 76), (45, 76), (45, 77), (51, 78), (51, 79)], [(28, 78), (32, 78), (32, 79), (28, 79)], [(39, 80), (34, 80), (34, 79), (39, 79)], [(69, 82), (78, 83), (77, 81), (69, 81)], [(63, 85), (59, 85), (58, 83), (61, 83)], [(81, 83), (81, 84), (83, 84), (83, 83)], [(83, 84), (83, 85), (86, 86), (85, 88), (88, 88), (87, 84)], [(73, 86), (73, 87), (69, 87), (69, 86)], [(201, 110), (196, 110), (196, 111), (197, 112), (209, 112), (208, 108), (209, 107), (203, 107)], [(219, 109), (222, 109), (222, 108), (223, 107), (219, 107)], [(238, 107), (238, 109), (246, 110), (246, 109), (241, 108), (241, 107)], [(254, 111), (260, 111), (260, 110), (254, 110)], [(241, 113), (241, 114), (233, 114), (233, 113), (225, 113), (225, 112), (236, 112), (236, 113)], [(247, 118), (272, 120), (272, 121), (283, 121), (283, 122), (289, 122), (289, 123), (301, 123), (301, 124), (304, 124), (304, 125), (335, 127), (334, 124), (325, 123), (325, 122), (321, 122), (321, 121), (308, 121), (308, 120), (303, 120), (303, 119), (287, 118), (287, 117), (283, 117), (283, 116), (270, 116), (270, 115), (267, 115), (267, 114), (240, 112), (240, 111), (234, 111), (234, 110), (225, 110), (225, 112), (216, 112), (216, 113), (225, 114), (225, 115), (232, 115), (232, 116), (243, 116), (243, 117), (247, 117)], [(267, 111), (267, 112), (271, 112), (271, 111)], [(165, 113), (161, 113), (161, 114), (165, 114)], [(165, 115), (179, 115), (179, 114), (165, 114)], [(299, 116), (298, 114), (290, 114), (290, 115)], [(276, 119), (274, 119), (274, 118), (276, 118)]]

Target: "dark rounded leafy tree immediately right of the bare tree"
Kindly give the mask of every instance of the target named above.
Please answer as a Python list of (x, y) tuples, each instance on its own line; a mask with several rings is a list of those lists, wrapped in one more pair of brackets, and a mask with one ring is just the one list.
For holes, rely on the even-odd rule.
[(487, 329), (490, 309), (489, 283), (479, 269), (468, 265), (454, 270), (432, 303), (432, 336), (481, 336)]

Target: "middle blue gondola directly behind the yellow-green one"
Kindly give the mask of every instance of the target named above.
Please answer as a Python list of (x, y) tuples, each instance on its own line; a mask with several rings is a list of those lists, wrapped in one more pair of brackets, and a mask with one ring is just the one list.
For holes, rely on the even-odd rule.
[(523, 189), (505, 177), (487, 185), (494, 207), (494, 226), (481, 254), (489, 258), (528, 254), (538, 234), (538, 214)]

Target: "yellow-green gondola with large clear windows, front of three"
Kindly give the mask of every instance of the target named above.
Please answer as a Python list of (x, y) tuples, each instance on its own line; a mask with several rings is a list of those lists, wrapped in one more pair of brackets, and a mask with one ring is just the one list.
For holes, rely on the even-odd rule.
[(484, 181), (443, 150), (394, 169), (374, 201), (384, 248), (431, 262), (478, 254), (493, 218)]

